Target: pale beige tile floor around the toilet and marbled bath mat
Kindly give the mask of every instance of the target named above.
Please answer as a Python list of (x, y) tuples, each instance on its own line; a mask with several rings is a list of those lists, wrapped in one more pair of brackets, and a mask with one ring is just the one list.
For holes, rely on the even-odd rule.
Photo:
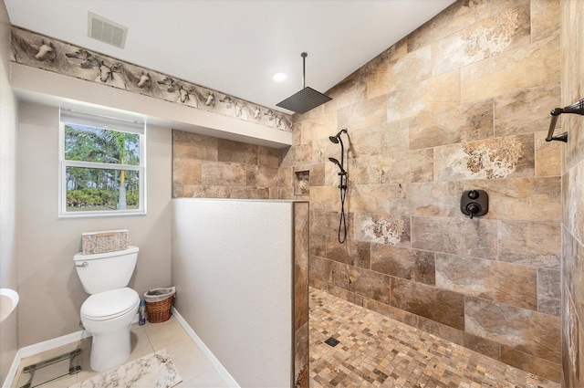
[[(139, 359), (161, 349), (166, 349), (169, 352), (172, 362), (174, 362), (183, 378), (183, 383), (175, 385), (177, 388), (228, 386), (219, 372), (215, 370), (213, 364), (207, 360), (203, 352), (174, 317), (162, 323), (147, 322), (144, 326), (134, 323), (131, 327), (131, 341), (132, 351), (128, 361)], [(68, 351), (74, 351), (78, 347), (81, 349), (81, 372), (42, 384), (40, 388), (65, 388), (74, 383), (80, 383), (98, 374), (98, 372), (93, 372), (89, 368), (91, 338), (23, 359), (20, 362), (19, 372), (26, 365), (47, 360)], [(43, 370), (41, 369), (39, 372), (43, 372)], [(16, 382), (18, 382), (18, 378), (15, 379), (13, 388), (17, 387)]]

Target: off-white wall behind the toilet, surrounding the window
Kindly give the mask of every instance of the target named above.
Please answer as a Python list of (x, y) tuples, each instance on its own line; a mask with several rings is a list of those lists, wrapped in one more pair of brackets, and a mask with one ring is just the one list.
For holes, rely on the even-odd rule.
[(79, 330), (88, 297), (73, 256), (82, 232), (127, 228), (140, 254), (130, 287), (140, 294), (171, 282), (172, 131), (147, 128), (147, 215), (61, 218), (58, 109), (23, 102), (18, 111), (19, 347)]

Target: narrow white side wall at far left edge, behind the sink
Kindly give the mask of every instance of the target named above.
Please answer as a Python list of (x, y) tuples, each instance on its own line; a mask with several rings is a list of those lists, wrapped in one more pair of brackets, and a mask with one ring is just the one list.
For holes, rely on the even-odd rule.
[[(16, 236), (16, 99), (8, 84), (10, 20), (0, 0), (0, 288), (18, 289)], [(15, 358), (17, 312), (0, 323), (0, 383)]]

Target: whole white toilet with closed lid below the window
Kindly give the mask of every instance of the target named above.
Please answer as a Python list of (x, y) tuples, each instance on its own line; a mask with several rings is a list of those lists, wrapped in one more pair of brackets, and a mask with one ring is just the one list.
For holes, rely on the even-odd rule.
[(84, 255), (79, 252), (75, 268), (89, 294), (81, 306), (81, 323), (93, 336), (89, 366), (108, 371), (130, 357), (130, 326), (138, 312), (140, 297), (128, 288), (138, 247), (115, 252)]

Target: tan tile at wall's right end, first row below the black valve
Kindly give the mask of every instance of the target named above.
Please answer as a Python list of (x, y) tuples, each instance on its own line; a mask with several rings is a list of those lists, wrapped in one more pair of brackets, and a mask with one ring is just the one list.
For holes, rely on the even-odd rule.
[(499, 260), (559, 268), (561, 229), (554, 223), (500, 221)]

